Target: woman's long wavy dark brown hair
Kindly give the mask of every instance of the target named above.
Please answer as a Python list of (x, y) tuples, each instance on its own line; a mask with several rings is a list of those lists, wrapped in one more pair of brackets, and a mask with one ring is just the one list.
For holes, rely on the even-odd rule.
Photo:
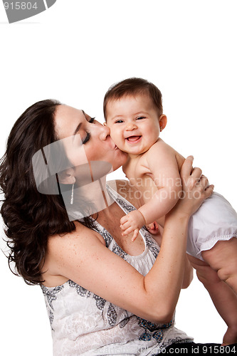
[[(62, 196), (38, 192), (33, 175), (33, 155), (58, 140), (54, 125), (58, 105), (57, 100), (42, 100), (23, 112), (10, 132), (6, 153), (0, 161), (0, 186), (4, 193), (1, 215), (10, 248), (9, 267), (14, 262), (16, 272), (11, 271), (22, 276), (27, 284), (43, 282), (41, 267), (48, 236), (75, 230)], [(87, 221), (84, 224), (91, 227)]]

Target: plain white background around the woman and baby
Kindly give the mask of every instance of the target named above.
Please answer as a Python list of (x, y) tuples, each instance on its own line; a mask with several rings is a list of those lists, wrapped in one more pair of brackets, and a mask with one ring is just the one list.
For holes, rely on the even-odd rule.
[[(58, 0), (9, 24), (0, 4), (1, 155), (29, 105), (56, 98), (103, 122), (107, 88), (139, 76), (162, 91), (168, 124), (161, 137), (194, 155), (237, 209), (236, 10), (230, 0)], [(0, 271), (0, 354), (51, 356), (41, 289), (14, 276), (1, 251)], [(181, 292), (177, 328), (196, 342), (222, 341), (226, 325), (196, 278)]]

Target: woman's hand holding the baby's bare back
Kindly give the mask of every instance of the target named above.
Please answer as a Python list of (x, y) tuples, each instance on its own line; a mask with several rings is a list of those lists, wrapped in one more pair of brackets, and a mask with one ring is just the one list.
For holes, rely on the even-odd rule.
[(185, 159), (181, 167), (181, 180), (183, 186), (182, 197), (179, 199), (172, 213), (191, 216), (199, 209), (206, 198), (209, 198), (214, 190), (214, 185), (209, 185), (208, 179), (202, 174), (200, 168), (193, 168), (194, 157)]

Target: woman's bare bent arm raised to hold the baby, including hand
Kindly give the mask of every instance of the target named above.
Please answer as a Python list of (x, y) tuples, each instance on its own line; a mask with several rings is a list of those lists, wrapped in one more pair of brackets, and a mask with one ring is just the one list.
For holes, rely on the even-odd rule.
[[(194, 169), (190, 176), (191, 164), (192, 160), (186, 159), (182, 172), (189, 199), (185, 197), (168, 214), (159, 255), (146, 276), (109, 251), (95, 231), (81, 224), (71, 234), (50, 239), (50, 273), (71, 279), (141, 318), (169, 322), (184, 278), (189, 216), (213, 190), (213, 187), (204, 189), (204, 179), (199, 187), (192, 186), (192, 179), (196, 174), (200, 177), (200, 172)], [(201, 197), (194, 199), (197, 190)]]

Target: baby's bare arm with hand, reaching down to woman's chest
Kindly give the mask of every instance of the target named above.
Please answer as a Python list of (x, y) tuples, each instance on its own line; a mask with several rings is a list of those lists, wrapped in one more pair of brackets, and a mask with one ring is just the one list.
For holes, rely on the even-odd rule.
[(152, 174), (157, 192), (137, 211), (131, 211), (130, 214), (122, 217), (123, 235), (134, 231), (132, 240), (136, 239), (139, 229), (144, 224), (151, 224), (166, 215), (177, 203), (181, 194), (179, 168), (171, 147), (164, 142), (161, 144), (157, 142), (144, 155), (144, 166)]

